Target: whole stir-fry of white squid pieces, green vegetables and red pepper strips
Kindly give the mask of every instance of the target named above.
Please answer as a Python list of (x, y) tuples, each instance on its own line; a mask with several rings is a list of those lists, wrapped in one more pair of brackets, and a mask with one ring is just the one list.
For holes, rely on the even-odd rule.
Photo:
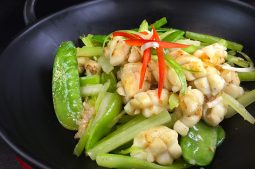
[(241, 44), (163, 27), (162, 18), (132, 30), (82, 36), (57, 52), (56, 116), (83, 152), (109, 168), (181, 169), (209, 165), (224, 141), (221, 122), (245, 109), (255, 90), (252, 60)]

